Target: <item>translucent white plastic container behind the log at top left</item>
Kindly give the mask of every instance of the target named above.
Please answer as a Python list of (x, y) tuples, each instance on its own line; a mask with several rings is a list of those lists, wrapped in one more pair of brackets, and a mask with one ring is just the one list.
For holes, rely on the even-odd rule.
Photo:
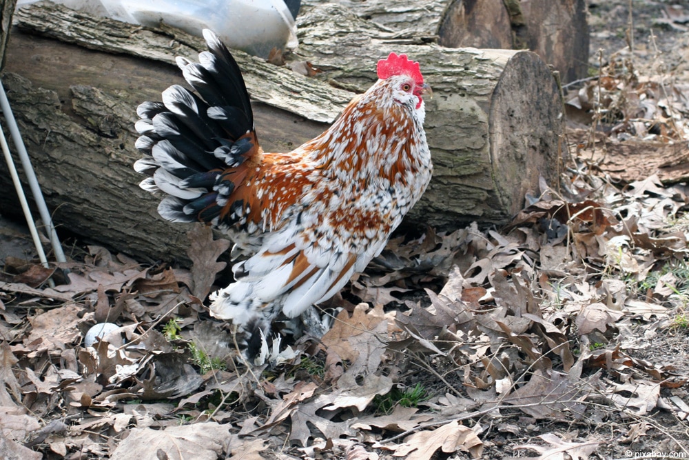
[[(35, 0), (19, 0), (18, 6)], [(161, 21), (201, 36), (218, 34), (229, 48), (267, 57), (273, 48), (296, 48), (296, 24), (282, 0), (54, 0), (70, 8), (144, 26)]]

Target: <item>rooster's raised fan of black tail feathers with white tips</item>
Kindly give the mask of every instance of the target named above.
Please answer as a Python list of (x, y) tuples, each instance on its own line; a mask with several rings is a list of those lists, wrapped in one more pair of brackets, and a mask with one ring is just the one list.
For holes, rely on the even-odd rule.
[(212, 32), (204, 31), (204, 37), (209, 51), (199, 54), (200, 63), (177, 59), (198, 94), (173, 85), (163, 91), (162, 102), (138, 106), (136, 148), (151, 157), (134, 169), (152, 176), (142, 188), (169, 195), (158, 206), (165, 219), (218, 224), (234, 190), (227, 177), (237, 177), (232, 168), (259, 150), (239, 66)]

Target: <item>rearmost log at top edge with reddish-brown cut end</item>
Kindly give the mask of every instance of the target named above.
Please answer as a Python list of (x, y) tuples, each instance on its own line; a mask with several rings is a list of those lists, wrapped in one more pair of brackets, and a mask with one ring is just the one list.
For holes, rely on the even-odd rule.
[[(586, 0), (328, 0), (387, 30), (447, 48), (532, 50), (562, 74), (587, 76)], [(325, 3), (302, 1), (302, 8)]]

